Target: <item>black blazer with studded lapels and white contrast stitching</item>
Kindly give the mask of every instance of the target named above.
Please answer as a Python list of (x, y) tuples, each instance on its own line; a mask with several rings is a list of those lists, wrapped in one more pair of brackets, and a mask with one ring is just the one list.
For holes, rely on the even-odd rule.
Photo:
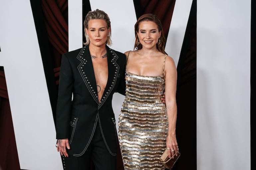
[(70, 149), (67, 152), (74, 156), (85, 152), (97, 122), (109, 152), (112, 155), (117, 152), (112, 97), (116, 91), (125, 94), (126, 57), (108, 46), (106, 48), (108, 80), (100, 102), (88, 45), (62, 56), (56, 138), (68, 138)]

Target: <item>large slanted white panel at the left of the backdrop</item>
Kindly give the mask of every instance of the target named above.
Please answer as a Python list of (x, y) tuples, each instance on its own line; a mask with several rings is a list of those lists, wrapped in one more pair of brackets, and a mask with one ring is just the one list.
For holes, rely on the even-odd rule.
[[(44, 22), (44, 21), (42, 21)], [(30, 1), (0, 1), (4, 66), (21, 169), (60, 170), (53, 113)]]

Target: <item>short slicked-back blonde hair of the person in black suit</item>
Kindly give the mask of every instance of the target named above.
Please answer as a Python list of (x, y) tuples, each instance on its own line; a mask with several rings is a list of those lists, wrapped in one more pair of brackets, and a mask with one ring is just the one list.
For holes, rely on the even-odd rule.
[[(94, 11), (89, 11), (88, 14), (85, 17), (85, 20), (83, 22), (84, 28), (88, 29), (88, 23), (90, 20), (94, 20), (94, 19), (103, 19), (106, 21), (107, 23), (107, 28), (110, 28), (109, 30), (109, 36), (107, 37), (107, 41), (106, 44), (107, 45), (112, 45), (112, 40), (111, 40), (111, 25), (110, 25), (110, 20), (108, 15), (104, 12), (101, 11), (99, 9), (96, 9)], [(84, 35), (86, 38), (86, 42), (84, 43), (84, 45), (88, 45), (90, 43), (89, 38), (86, 36), (86, 31), (84, 31)]]

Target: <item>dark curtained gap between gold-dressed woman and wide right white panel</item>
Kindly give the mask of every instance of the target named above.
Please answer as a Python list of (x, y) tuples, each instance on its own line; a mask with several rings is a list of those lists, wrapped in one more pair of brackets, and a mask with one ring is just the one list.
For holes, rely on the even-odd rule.
[(196, 170), (196, 0), (192, 1), (177, 74), (176, 135), (182, 156), (175, 168)]

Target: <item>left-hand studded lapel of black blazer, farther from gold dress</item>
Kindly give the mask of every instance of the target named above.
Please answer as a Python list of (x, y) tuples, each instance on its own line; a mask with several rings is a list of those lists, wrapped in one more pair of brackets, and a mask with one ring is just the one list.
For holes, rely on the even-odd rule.
[(92, 95), (93, 99), (96, 103), (98, 103), (98, 93), (97, 93), (97, 86), (96, 86), (96, 79), (94, 76), (91, 56), (89, 52), (89, 46), (86, 45), (82, 48), (79, 55), (76, 57), (81, 63), (78, 65), (79, 73), (88, 88), (90, 94)]

